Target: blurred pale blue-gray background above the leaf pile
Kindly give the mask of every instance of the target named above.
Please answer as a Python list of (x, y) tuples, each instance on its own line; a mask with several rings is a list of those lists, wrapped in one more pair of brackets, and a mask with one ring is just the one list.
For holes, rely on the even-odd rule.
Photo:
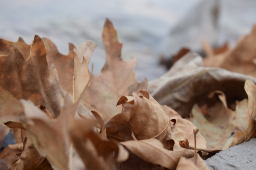
[(181, 47), (202, 52), (202, 40), (213, 46), (248, 34), (256, 23), (256, 0), (0, 0), (0, 38), (32, 43), (34, 34), (52, 40), (67, 54), (68, 42), (93, 40), (94, 73), (105, 63), (101, 33), (109, 18), (123, 43), (122, 57), (135, 57), (138, 80), (153, 80), (167, 70), (168, 58)]

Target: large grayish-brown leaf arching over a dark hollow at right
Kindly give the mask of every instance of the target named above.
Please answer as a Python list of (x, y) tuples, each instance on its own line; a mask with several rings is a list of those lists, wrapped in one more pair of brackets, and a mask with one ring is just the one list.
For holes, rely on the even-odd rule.
[(204, 67), (202, 57), (187, 53), (165, 75), (149, 82), (148, 91), (160, 105), (167, 105), (182, 117), (189, 117), (193, 105), (212, 91), (223, 91), (227, 100), (246, 98), (244, 82), (248, 78), (256, 82), (247, 75)]

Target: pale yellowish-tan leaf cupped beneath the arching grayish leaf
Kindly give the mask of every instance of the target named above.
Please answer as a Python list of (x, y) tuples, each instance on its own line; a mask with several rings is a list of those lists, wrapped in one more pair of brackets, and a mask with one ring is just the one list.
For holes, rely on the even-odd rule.
[[(192, 109), (192, 121), (200, 129), (208, 142), (210, 150), (224, 150), (229, 148), (234, 132), (243, 131), (248, 124), (248, 100), (236, 102), (236, 110), (227, 107), (224, 93), (218, 92), (219, 98), (215, 105), (208, 108), (208, 113), (202, 113), (198, 105)], [(213, 103), (211, 101), (211, 103)], [(206, 112), (206, 111), (204, 111)]]

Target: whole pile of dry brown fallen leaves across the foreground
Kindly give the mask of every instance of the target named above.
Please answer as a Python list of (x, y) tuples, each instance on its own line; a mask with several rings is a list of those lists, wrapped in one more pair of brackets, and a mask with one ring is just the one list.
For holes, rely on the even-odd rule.
[[(0, 167), (16, 170), (208, 169), (204, 160), (256, 137), (256, 27), (233, 49), (188, 52), (138, 83), (106, 20), (106, 63), (92, 41), (62, 55), (47, 38), (0, 39)], [(216, 52), (217, 51), (217, 52)], [(199, 132), (198, 132), (199, 129)]]

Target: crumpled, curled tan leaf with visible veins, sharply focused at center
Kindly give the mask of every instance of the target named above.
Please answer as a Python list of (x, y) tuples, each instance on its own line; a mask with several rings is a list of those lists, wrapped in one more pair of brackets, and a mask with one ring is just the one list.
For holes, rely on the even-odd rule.
[(165, 148), (171, 147), (165, 141), (167, 132), (171, 130), (169, 118), (161, 105), (147, 91), (139, 91), (132, 96), (122, 96), (117, 102), (117, 105), (121, 104), (123, 104), (122, 113), (114, 116), (106, 124), (108, 136), (124, 140), (125, 134), (109, 124), (126, 123), (138, 140), (157, 138), (163, 142)]

